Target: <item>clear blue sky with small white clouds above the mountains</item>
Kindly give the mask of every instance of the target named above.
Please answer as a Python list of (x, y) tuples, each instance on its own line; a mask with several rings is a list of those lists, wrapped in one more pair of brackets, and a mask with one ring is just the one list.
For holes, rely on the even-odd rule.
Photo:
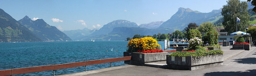
[(28, 16), (68, 31), (101, 28), (120, 19), (138, 25), (167, 21), (180, 7), (208, 13), (226, 4), (226, 0), (0, 0), (0, 9), (17, 21)]

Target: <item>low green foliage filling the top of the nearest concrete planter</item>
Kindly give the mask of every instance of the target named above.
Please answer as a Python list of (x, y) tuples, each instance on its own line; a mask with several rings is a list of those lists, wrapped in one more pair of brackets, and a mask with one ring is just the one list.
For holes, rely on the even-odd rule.
[(178, 56), (178, 57), (187, 57), (187, 56), (207, 56), (207, 55), (216, 55), (222, 54), (223, 51), (220, 50), (209, 50), (209, 51), (196, 51), (196, 52), (174, 52), (171, 53), (169, 56)]

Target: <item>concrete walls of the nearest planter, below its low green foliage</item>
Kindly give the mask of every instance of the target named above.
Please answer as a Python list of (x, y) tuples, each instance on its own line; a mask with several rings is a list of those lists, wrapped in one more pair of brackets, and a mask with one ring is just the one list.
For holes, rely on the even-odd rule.
[(183, 69), (183, 70), (196, 70), (205, 67), (223, 65), (223, 55), (208, 55), (202, 57), (188, 56), (172, 57), (166, 55), (166, 64), (168, 68)]

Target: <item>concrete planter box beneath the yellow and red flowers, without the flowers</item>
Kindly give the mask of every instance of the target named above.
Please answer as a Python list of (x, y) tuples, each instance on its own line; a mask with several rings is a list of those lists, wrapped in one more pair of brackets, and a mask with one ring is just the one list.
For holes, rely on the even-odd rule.
[(124, 63), (130, 65), (144, 66), (147, 62), (156, 62), (166, 60), (168, 52), (158, 53), (138, 53), (138, 52), (124, 52), (124, 57), (132, 56), (131, 60), (125, 60)]

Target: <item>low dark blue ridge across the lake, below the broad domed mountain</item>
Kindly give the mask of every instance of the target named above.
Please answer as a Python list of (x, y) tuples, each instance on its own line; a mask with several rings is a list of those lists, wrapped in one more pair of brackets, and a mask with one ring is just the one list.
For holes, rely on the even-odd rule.
[(125, 40), (127, 37), (132, 38), (136, 34), (153, 36), (157, 33), (172, 33), (173, 31), (175, 30), (171, 28), (148, 29), (140, 27), (116, 27), (113, 29), (113, 31), (109, 32), (108, 34), (88, 36), (81, 40)]

